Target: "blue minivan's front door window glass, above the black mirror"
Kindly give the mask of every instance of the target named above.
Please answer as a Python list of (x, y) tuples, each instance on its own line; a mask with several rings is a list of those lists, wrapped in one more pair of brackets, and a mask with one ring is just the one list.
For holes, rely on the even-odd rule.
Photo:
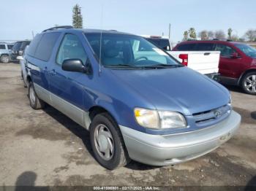
[(80, 59), (83, 64), (86, 63), (86, 52), (78, 36), (74, 34), (65, 34), (59, 47), (56, 63), (62, 65), (63, 61), (67, 59)]

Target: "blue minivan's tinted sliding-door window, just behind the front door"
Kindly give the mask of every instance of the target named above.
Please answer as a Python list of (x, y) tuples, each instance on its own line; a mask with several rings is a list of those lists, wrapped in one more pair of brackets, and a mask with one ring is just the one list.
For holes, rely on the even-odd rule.
[(49, 61), (50, 55), (53, 52), (53, 47), (59, 38), (59, 35), (60, 33), (43, 34), (42, 39), (37, 46), (34, 57), (42, 61)]

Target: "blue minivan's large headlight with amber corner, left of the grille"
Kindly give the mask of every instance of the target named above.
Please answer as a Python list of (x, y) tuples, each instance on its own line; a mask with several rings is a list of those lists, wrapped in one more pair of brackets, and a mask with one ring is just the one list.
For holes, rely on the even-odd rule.
[(184, 116), (178, 112), (157, 112), (157, 110), (135, 108), (135, 118), (138, 124), (145, 128), (166, 129), (187, 127)]

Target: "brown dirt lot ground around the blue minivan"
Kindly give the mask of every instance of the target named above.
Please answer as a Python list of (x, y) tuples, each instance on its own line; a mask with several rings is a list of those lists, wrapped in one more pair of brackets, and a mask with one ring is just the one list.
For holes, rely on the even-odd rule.
[[(33, 110), (18, 64), (0, 63), (0, 187), (2, 185), (256, 184), (256, 96), (228, 87), (242, 116), (236, 136), (187, 163), (152, 167), (132, 162), (108, 171), (91, 154), (89, 132), (47, 106)], [(0, 189), (1, 190), (1, 189)]]

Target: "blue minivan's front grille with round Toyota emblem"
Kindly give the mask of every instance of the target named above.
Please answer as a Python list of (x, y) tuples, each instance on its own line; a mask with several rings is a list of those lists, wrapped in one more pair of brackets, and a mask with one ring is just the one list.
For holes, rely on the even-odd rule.
[(196, 124), (203, 124), (214, 120), (224, 119), (230, 114), (231, 106), (229, 104), (221, 106), (217, 109), (211, 109), (206, 112), (200, 112), (193, 114)]

